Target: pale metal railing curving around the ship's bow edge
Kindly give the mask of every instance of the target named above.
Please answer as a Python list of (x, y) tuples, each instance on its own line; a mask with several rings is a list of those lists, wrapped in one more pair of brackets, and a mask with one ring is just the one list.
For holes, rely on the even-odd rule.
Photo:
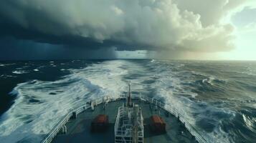
[[(49, 134), (47, 134), (44, 137), (44, 139), (42, 139), (41, 143), (52, 142), (52, 139), (54, 139), (54, 137), (60, 132), (60, 129), (62, 129), (62, 127), (65, 126), (65, 124), (67, 124), (67, 122), (73, 116), (73, 112), (75, 112), (76, 114), (80, 114), (81, 112), (84, 112), (86, 109), (89, 109), (90, 107), (92, 107), (92, 105), (97, 106), (98, 104), (102, 104), (104, 102), (113, 102), (118, 99), (125, 99), (125, 98), (126, 97), (110, 99), (108, 97), (107, 98), (103, 97), (103, 98), (92, 100), (90, 103), (87, 102), (86, 104), (82, 105), (81, 107), (78, 107), (77, 109), (73, 109), (68, 114), (66, 114), (65, 117), (63, 117), (60, 120), (60, 122), (58, 122), (55, 125), (55, 127), (49, 132)], [(197, 142), (207, 143), (206, 140), (202, 137), (202, 135), (199, 134), (199, 132), (197, 132), (196, 129), (193, 126), (191, 126), (191, 124), (189, 124), (189, 122), (186, 121), (186, 119), (184, 118), (184, 114), (179, 112), (175, 107), (172, 107), (170, 104), (163, 104), (162, 102), (158, 101), (157, 99), (153, 99), (151, 97), (133, 97), (133, 99), (141, 99), (145, 102), (149, 102), (158, 107), (161, 107), (162, 109), (165, 109), (166, 111), (170, 112), (175, 117), (177, 117), (180, 120), (180, 122), (182, 122), (184, 124), (184, 127), (186, 127), (186, 129), (195, 137)]]

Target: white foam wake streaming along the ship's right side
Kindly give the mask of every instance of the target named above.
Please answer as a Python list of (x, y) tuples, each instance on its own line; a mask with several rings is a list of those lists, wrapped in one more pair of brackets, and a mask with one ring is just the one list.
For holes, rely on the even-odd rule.
[[(182, 84), (189, 82), (190, 79), (187, 78), (185, 81), (182, 81), (180, 78), (186, 78), (186, 75), (179, 71), (172, 70), (174, 66), (179, 67), (179, 65), (165, 64), (164, 66), (154, 66), (156, 69), (158, 69), (156, 72), (158, 75), (158, 80), (152, 85), (152, 87), (154, 87), (157, 91), (156, 97), (164, 99), (164, 102), (171, 105), (171, 107), (175, 107), (192, 126), (196, 127), (196, 122), (199, 122), (201, 119), (209, 119), (209, 117), (204, 116), (205, 112), (209, 114), (227, 114), (227, 117), (230, 117), (230, 119), (234, 117), (234, 112), (232, 111), (217, 109), (216, 107), (212, 107), (204, 102), (195, 102), (197, 94), (192, 92), (187, 87), (184, 87)], [(187, 72), (186, 74), (191, 76), (190, 73), (191, 72)], [(198, 72), (194, 72), (193, 74), (199, 74), (201, 76), (208, 77), (206, 74)], [(213, 80), (214, 77), (209, 77), (205, 79), (204, 82), (212, 84)], [(192, 99), (188, 98), (187, 96), (180, 96), (181, 94), (190, 95)], [(200, 104), (205, 104), (205, 107), (200, 107)], [(197, 117), (194, 117), (194, 114), (197, 114)], [(212, 132), (205, 132), (200, 127), (196, 127), (196, 129), (199, 130), (205, 139), (207, 139), (207, 142), (229, 142), (228, 133), (223, 132), (222, 129), (219, 128), (222, 119), (219, 119), (214, 115), (212, 115), (210, 118), (215, 120), (215, 122), (212, 123), (214, 124), (214, 129)]]

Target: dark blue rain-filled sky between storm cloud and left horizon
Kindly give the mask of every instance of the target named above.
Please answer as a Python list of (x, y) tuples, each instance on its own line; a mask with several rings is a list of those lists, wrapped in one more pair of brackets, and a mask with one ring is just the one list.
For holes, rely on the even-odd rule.
[(114, 59), (114, 49), (72, 48), (11, 37), (0, 39), (0, 60), (19, 59)]

